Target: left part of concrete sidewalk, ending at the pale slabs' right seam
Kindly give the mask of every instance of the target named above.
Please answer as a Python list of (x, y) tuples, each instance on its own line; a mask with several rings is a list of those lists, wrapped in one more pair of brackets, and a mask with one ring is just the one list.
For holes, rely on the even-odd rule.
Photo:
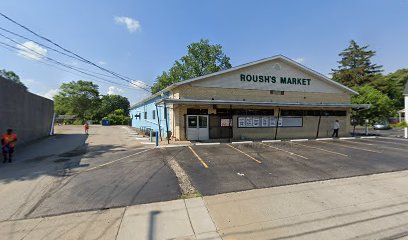
[(0, 222), (0, 239), (221, 239), (202, 198)]

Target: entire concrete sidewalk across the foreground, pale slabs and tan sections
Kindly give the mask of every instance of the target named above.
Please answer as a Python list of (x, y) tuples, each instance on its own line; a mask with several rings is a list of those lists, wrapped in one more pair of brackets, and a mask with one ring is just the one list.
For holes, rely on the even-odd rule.
[[(408, 171), (0, 222), (1, 239), (400, 239)], [(220, 237), (221, 236), (221, 237)]]

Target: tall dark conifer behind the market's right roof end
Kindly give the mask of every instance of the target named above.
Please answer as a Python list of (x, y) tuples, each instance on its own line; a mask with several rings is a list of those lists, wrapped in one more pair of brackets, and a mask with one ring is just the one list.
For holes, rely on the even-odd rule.
[(372, 84), (373, 78), (382, 72), (382, 66), (373, 64), (371, 58), (375, 51), (368, 50), (368, 45), (359, 46), (354, 40), (348, 48), (339, 54), (341, 60), (338, 69), (332, 69), (333, 80), (348, 87)]

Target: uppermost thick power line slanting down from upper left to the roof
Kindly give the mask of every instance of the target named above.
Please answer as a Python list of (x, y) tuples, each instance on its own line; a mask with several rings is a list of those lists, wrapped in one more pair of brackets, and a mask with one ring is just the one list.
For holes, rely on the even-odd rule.
[[(1, 13), (1, 12), (0, 12), (0, 15), (1, 15), (3, 18), (9, 20), (10, 22), (12, 22), (12, 23), (18, 25), (19, 27), (25, 29), (26, 31), (32, 33), (33, 35), (35, 35), (35, 36), (37, 36), (37, 37), (39, 37), (39, 38), (41, 38), (41, 39), (43, 39), (43, 40), (45, 40), (45, 41), (51, 43), (52, 45), (54, 45), (54, 46), (56, 46), (56, 47), (58, 47), (58, 48), (64, 50), (65, 52), (68, 52), (68, 53), (74, 55), (75, 57), (78, 57), (78, 58), (82, 59), (82, 61), (84, 61), (85, 63), (88, 63), (88, 64), (90, 64), (90, 65), (92, 65), (92, 66), (95, 66), (95, 67), (99, 68), (99, 69), (102, 70), (102, 71), (108, 72), (109, 74), (111, 74), (111, 75), (113, 75), (113, 76), (116, 76), (117, 78), (122, 79), (123, 81), (126, 81), (126, 82), (128, 82), (128, 83), (130, 83), (130, 84), (132, 84), (132, 85), (134, 85), (134, 86), (136, 86), (136, 87), (139, 87), (139, 88), (141, 88), (141, 89), (143, 89), (143, 90), (145, 90), (145, 91), (151, 93), (150, 90), (145, 89), (145, 88), (142, 88), (142, 87), (140, 87), (140, 86), (134, 84), (132, 80), (129, 80), (129, 79), (131, 79), (131, 78), (124, 77), (124, 76), (122, 76), (122, 75), (120, 75), (120, 74), (118, 74), (118, 73), (116, 73), (116, 72), (113, 72), (113, 71), (111, 71), (111, 70), (108, 70), (108, 69), (106, 69), (106, 68), (103, 68), (103, 67), (99, 66), (98, 64), (96, 64), (96, 63), (94, 63), (94, 62), (92, 62), (92, 61), (90, 61), (90, 60), (87, 60), (86, 58), (81, 57), (80, 55), (78, 55), (78, 54), (76, 54), (76, 53), (74, 53), (74, 52), (72, 52), (72, 51), (70, 51), (70, 50), (68, 50), (68, 49), (66, 49), (66, 48), (64, 48), (64, 47), (62, 47), (62, 46), (59, 45), (58, 43), (55, 43), (54, 41), (52, 41), (52, 40), (50, 40), (50, 39), (48, 39), (48, 38), (46, 38), (46, 37), (44, 37), (44, 36), (42, 36), (42, 35), (40, 35), (40, 34), (34, 32), (34, 31), (31, 30), (30, 28), (28, 28), (28, 27), (26, 27), (26, 26), (24, 26), (24, 25), (18, 23), (17, 21), (13, 20), (12, 18), (6, 16), (5, 14), (3, 14), (3, 13)], [(145, 85), (148, 86), (148, 87), (150, 87), (150, 86), (147, 85), (147, 84), (145, 84)]]

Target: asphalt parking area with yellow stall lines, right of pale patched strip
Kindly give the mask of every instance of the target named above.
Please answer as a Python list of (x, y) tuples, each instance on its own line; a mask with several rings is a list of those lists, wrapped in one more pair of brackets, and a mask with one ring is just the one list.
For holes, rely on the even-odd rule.
[(213, 195), (406, 170), (407, 154), (406, 140), (365, 138), (196, 145), (174, 158), (200, 193)]

